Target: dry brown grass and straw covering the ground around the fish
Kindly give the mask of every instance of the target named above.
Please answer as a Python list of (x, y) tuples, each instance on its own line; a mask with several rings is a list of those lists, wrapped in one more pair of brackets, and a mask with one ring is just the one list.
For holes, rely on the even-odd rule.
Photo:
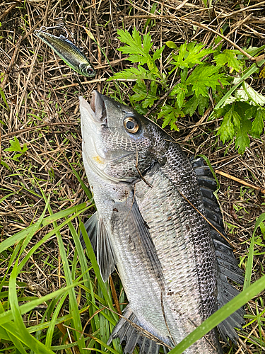
[[(157, 7), (152, 14), (153, 4), (157, 4)], [(219, 33), (221, 28), (225, 35), (223, 48), (232, 49), (227, 39), (240, 47), (264, 45), (265, 1), (207, 1), (207, 6), (199, 0), (166, 0), (163, 3), (135, 0), (1, 2), (0, 77), (9, 109), (4, 99), (0, 98), (0, 119), (3, 122), (0, 124), (0, 156), (9, 168), (0, 165), (0, 199), (13, 193), (0, 203), (1, 240), (28, 227), (40, 217), (45, 206), (40, 189), (46, 195), (51, 195), (50, 205), (54, 213), (86, 200), (86, 194), (70, 165), (88, 184), (81, 159), (78, 110), (78, 95), (81, 91), (76, 74), (35, 37), (34, 30), (41, 25), (54, 25), (55, 18), (64, 17), (66, 28), (73, 33), (78, 47), (84, 48), (97, 69), (95, 79), (80, 77), (89, 97), (94, 89), (112, 93), (114, 86), (106, 84), (105, 80), (112, 76), (112, 71), (98, 46), (86, 35), (83, 25), (105, 50), (114, 71), (131, 65), (124, 62), (117, 51), (117, 28), (129, 30), (135, 26), (143, 30), (148, 19), (151, 20), (148, 29), (157, 47), (166, 40), (172, 40), (177, 45), (185, 40), (196, 40), (210, 46), (216, 38), (215, 32)], [(161, 70), (164, 64), (160, 63)], [(126, 93), (130, 91), (131, 84), (128, 83), (128, 89), (123, 91), (127, 103)], [(252, 85), (261, 92), (264, 90), (264, 79)], [(235, 152), (233, 145), (222, 146), (214, 132), (217, 121), (204, 120), (198, 125), (199, 119), (194, 115), (179, 122), (180, 132), (174, 135), (183, 148), (188, 153), (205, 154), (218, 169), (265, 188), (264, 136), (261, 140), (251, 139), (250, 148), (241, 156)], [(188, 135), (189, 139), (183, 142)], [(19, 161), (13, 159), (13, 152), (4, 151), (13, 137), (28, 147)], [(220, 177), (220, 184), (220, 205), (225, 222), (230, 224), (228, 236), (240, 259), (247, 252), (256, 217), (265, 211), (264, 195), (228, 178)], [(69, 229), (63, 229), (61, 234), (71, 257), (74, 247)], [(264, 251), (264, 247), (260, 246), (259, 251)], [(6, 271), (7, 261), (2, 259), (0, 278), (1, 273), (4, 275)], [(254, 257), (253, 280), (264, 274), (264, 261), (264, 255)], [(242, 266), (245, 267), (244, 260)], [(27, 284), (25, 295), (28, 296), (33, 293), (43, 296), (61, 287), (64, 280), (61, 278), (56, 239), (49, 240), (39, 253), (35, 253), (25, 272), (20, 274), (20, 281)], [(249, 314), (257, 313), (256, 305), (259, 312), (264, 309), (261, 300), (258, 299), (257, 303), (253, 300), (249, 303)], [(37, 317), (33, 320), (38, 321)], [(245, 331), (259, 338), (257, 322)], [(228, 346), (225, 350), (229, 352)], [(261, 351), (247, 342), (247, 345), (241, 343), (229, 353)]]

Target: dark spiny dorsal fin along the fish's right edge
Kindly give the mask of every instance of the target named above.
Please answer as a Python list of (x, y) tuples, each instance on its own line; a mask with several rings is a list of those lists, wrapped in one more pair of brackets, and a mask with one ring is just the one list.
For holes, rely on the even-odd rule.
[[(223, 216), (220, 212), (216, 197), (213, 195), (217, 186), (216, 180), (213, 178), (209, 167), (204, 164), (204, 159), (199, 157), (192, 159), (191, 162), (201, 190), (206, 217), (221, 234), (226, 236), (223, 226)], [(239, 291), (228, 282), (228, 278), (238, 284), (243, 284), (244, 278), (242, 276), (242, 269), (238, 267), (237, 260), (228, 242), (225, 241), (213, 227), (210, 227), (210, 229), (211, 238), (213, 239), (213, 245), (216, 251), (218, 273), (217, 300), (218, 309), (220, 309), (223, 305), (227, 304), (230, 299), (239, 294)], [(244, 309), (240, 308), (218, 325), (218, 330), (225, 341), (229, 337), (234, 343), (237, 343), (238, 336), (234, 328), (240, 329), (242, 328), (242, 324), (245, 324), (244, 314)]]

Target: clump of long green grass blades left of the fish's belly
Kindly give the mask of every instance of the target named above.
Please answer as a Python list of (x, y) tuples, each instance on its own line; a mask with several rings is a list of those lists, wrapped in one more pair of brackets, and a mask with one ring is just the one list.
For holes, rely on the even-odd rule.
[[(105, 348), (108, 348), (110, 353), (122, 353), (117, 341), (114, 341), (113, 348), (105, 344), (114, 324), (117, 322), (118, 316), (112, 306), (110, 288), (102, 282), (100, 277), (89, 240), (86, 239), (86, 243), (93, 267), (88, 263), (88, 258), (83, 252), (78, 233), (71, 222), (81, 213), (93, 207), (93, 205), (83, 203), (78, 205), (78, 207), (69, 207), (62, 212), (52, 214), (49, 198), (45, 198), (45, 202), (45, 210), (35, 224), (11, 236), (0, 245), (0, 252), (3, 255), (11, 252), (6, 274), (0, 283), (0, 289), (3, 289), (8, 284), (8, 294), (7, 292), (2, 292), (3, 298), (0, 303), (1, 343), (5, 344), (6, 350), (11, 350), (12, 352), (13, 348), (16, 348), (19, 353), (28, 353), (28, 350), (33, 353), (56, 353), (57, 350), (66, 350), (66, 353), (71, 353), (69, 350), (72, 346), (77, 346), (80, 353), (90, 353), (91, 350), (87, 348), (93, 348), (93, 350), (95, 349), (100, 353), (103, 353)], [(46, 210), (49, 211), (50, 216), (45, 217)], [(71, 260), (67, 257), (60, 232), (66, 224), (76, 244)], [(47, 226), (53, 227), (53, 229), (44, 234), (35, 246), (28, 249), (28, 245), (35, 234)], [(83, 227), (83, 224), (81, 224), (81, 227)], [(33, 256), (37, 249), (54, 234), (57, 236), (59, 254), (63, 265), (64, 285), (61, 289), (50, 292), (49, 295), (41, 298), (19, 298), (21, 285), (18, 283), (18, 275), (23, 272), (30, 256)], [(95, 271), (97, 281), (95, 280), (95, 275), (90, 275), (92, 268)], [(27, 287), (25, 283), (23, 286)], [(19, 306), (19, 301), (23, 301), (24, 304)], [(30, 316), (35, 307), (40, 304), (47, 304), (47, 309), (42, 316), (40, 324), (25, 326), (25, 315)], [(69, 309), (69, 314), (61, 316), (61, 309), (64, 307)], [(102, 311), (95, 314), (100, 307), (103, 307)], [(112, 311), (108, 310), (108, 308)], [(81, 314), (84, 312), (88, 313), (90, 318), (87, 329), (91, 327), (92, 333), (89, 334), (87, 331), (83, 333)], [(61, 329), (63, 332), (61, 332)], [(66, 336), (64, 335), (65, 333), (67, 334)], [(69, 342), (69, 335), (72, 343)], [(61, 341), (60, 345), (57, 345), (58, 341)]]

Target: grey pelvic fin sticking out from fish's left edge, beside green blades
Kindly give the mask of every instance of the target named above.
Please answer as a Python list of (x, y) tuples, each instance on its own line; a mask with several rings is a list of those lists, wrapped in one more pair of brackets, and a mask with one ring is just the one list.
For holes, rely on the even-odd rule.
[[(114, 252), (105, 224), (98, 212), (88, 219), (85, 227), (100, 267), (102, 280), (106, 282), (115, 268)], [(82, 234), (80, 234), (80, 241), (83, 248), (86, 248)]]

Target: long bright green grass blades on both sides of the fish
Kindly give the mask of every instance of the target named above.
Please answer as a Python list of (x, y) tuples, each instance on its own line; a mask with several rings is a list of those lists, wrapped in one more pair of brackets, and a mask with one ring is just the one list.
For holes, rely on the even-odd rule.
[[(102, 281), (98, 263), (93, 253), (92, 246), (86, 235), (86, 229), (81, 222), (80, 227), (86, 241), (88, 258), (83, 252), (79, 241), (78, 232), (73, 227), (72, 221), (79, 217), (83, 212), (93, 207), (83, 203), (78, 207), (69, 207), (68, 209), (52, 214), (49, 205), (49, 198), (45, 199), (45, 210), (41, 217), (21, 232), (11, 236), (0, 245), (0, 252), (10, 253), (9, 263), (4, 278), (1, 279), (0, 289), (3, 290), (8, 285), (8, 293), (2, 292), (0, 303), (0, 338), (9, 353), (59, 353), (59, 350), (65, 350), (71, 353), (71, 348), (76, 346), (80, 353), (114, 353), (121, 354), (122, 349), (118, 341), (114, 341), (111, 346), (107, 346), (107, 339), (117, 323), (118, 316), (112, 305), (112, 296), (110, 287)], [(45, 216), (47, 210), (49, 216)], [(254, 257), (254, 236), (261, 222), (265, 219), (265, 214), (261, 215), (256, 222), (252, 241), (247, 258), (247, 270), (245, 280), (245, 290), (232, 299), (222, 309), (213, 314), (204, 321), (194, 332), (190, 333), (176, 348), (170, 353), (180, 354), (192, 345), (196, 340), (204, 336), (213, 329), (220, 321), (239, 309), (259, 292), (265, 289), (265, 277), (250, 285), (252, 274), (252, 264)], [(76, 248), (73, 256), (69, 258), (66, 253), (64, 241), (60, 230), (64, 226), (69, 227)], [(52, 230), (44, 233), (40, 241), (28, 249), (30, 241), (44, 227), (52, 227)], [(64, 285), (61, 289), (50, 292), (43, 297), (21, 297), (21, 287), (27, 285), (18, 282), (18, 275), (23, 272), (30, 256), (42, 247), (42, 245), (56, 235), (59, 245), (59, 254), (63, 265)], [(20, 302), (24, 302), (20, 304)], [(35, 308), (40, 304), (46, 304), (47, 309), (42, 316), (41, 321), (34, 326), (26, 326), (25, 316), (30, 316)], [(262, 303), (264, 307), (264, 304)], [(67, 309), (68, 314), (62, 315), (62, 309)], [(251, 323), (257, 321), (259, 329), (259, 338), (250, 337), (248, 341), (257, 348), (264, 348), (264, 338), (262, 336), (262, 323), (265, 321), (264, 312), (257, 307), (255, 316), (247, 316)], [(88, 326), (83, 332), (84, 320), (83, 314), (88, 314)], [(88, 333), (90, 329), (90, 333)], [(247, 333), (242, 332), (243, 338)], [(71, 341), (69, 341), (71, 338)], [(16, 350), (15, 350), (16, 348)], [(261, 353), (261, 351), (260, 351)]]

